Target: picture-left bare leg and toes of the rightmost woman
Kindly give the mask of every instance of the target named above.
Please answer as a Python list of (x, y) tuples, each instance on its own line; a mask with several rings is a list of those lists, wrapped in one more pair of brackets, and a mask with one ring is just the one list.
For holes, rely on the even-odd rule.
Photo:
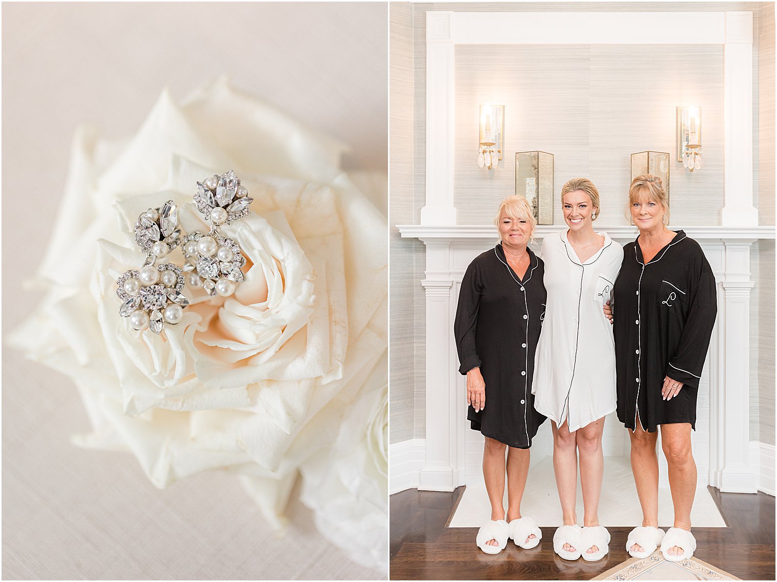
[[(631, 438), (631, 463), (636, 494), (642, 506), (643, 527), (658, 527), (658, 457), (656, 443), (658, 433), (643, 430), (637, 419), (636, 430), (629, 430)], [(639, 544), (632, 545), (632, 552), (644, 552)]]

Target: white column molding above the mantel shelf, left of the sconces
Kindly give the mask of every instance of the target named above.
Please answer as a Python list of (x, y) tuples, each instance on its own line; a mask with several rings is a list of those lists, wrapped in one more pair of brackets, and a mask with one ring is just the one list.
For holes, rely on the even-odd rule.
[(455, 225), (453, 12), (427, 12), (427, 199), (422, 225)]

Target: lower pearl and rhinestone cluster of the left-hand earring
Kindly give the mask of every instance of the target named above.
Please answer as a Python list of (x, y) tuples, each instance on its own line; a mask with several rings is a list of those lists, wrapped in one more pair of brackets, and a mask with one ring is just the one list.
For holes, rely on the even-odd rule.
[(119, 315), (130, 318), (134, 329), (162, 333), (165, 323), (178, 323), (189, 305), (181, 292), (184, 282), (181, 268), (171, 263), (125, 271), (116, 280), (116, 294), (124, 301)]

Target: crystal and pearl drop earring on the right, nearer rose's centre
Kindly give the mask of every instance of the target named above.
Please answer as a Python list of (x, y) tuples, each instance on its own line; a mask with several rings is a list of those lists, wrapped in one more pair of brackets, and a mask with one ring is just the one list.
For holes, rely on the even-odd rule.
[(191, 288), (204, 288), (211, 296), (228, 297), (245, 279), (241, 269), (246, 258), (235, 241), (219, 234), (218, 227), (250, 214), (253, 198), (248, 197), (246, 186), (241, 186), (229, 170), (197, 182), (194, 202), (211, 224), (211, 232), (192, 232), (183, 237), (186, 283)]

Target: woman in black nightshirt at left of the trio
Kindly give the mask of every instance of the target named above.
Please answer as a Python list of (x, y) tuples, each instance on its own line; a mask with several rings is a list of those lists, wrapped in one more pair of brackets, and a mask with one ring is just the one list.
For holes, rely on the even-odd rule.
[(501, 552), (507, 538), (524, 549), (534, 548), (542, 538), (537, 523), (521, 517), (521, 498), (531, 439), (545, 420), (531, 395), (545, 312), (544, 267), (527, 246), (536, 221), (524, 197), (510, 196), (500, 203), (494, 224), (500, 242), (467, 267), (454, 326), (459, 372), (467, 376), (467, 418), (485, 437), (483, 479), (491, 517), (478, 531), (476, 543), (487, 554)]

